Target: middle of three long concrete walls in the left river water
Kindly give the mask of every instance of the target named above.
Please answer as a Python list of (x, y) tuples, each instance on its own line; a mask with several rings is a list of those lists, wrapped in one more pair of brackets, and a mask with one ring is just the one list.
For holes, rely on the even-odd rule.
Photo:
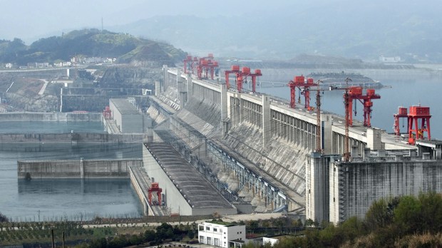
[(0, 143), (70, 143), (81, 144), (130, 144), (143, 143), (145, 134), (108, 133), (32, 133), (0, 134)]

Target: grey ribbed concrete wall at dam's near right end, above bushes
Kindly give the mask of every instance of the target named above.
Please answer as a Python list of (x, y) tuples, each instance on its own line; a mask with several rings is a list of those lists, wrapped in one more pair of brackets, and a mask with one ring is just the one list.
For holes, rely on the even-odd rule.
[(374, 200), (382, 197), (442, 192), (442, 162), (335, 163), (329, 167), (330, 222), (364, 217)]

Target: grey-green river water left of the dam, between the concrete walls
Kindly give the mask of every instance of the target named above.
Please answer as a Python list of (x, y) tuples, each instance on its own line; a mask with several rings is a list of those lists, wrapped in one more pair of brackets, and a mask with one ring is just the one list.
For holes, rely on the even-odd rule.
[[(1, 133), (103, 133), (101, 123), (0, 122)], [(141, 158), (141, 145), (0, 144), (0, 212), (13, 221), (139, 217), (130, 180), (18, 180), (17, 160)]]

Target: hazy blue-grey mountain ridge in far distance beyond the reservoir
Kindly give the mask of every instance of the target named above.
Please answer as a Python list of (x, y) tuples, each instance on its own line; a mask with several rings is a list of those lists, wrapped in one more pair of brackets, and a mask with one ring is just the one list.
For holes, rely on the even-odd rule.
[[(275, 1), (277, 7), (278, 3)], [(232, 10), (233, 11), (233, 10)], [(296, 1), (242, 16), (157, 16), (115, 26), (197, 56), (290, 59), (298, 54), (442, 62), (442, 2)], [(234, 12), (233, 12), (234, 13)]]

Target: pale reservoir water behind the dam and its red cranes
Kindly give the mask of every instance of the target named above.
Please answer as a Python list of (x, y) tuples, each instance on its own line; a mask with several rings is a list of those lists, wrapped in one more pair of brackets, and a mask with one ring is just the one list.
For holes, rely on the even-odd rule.
[[(442, 68), (442, 66), (441, 66)], [(262, 70), (262, 81), (285, 83), (284, 85), (274, 86), (268, 83), (262, 84), (260, 88), (257, 86), (257, 91), (276, 95), (286, 100), (290, 99), (290, 90), (287, 83), (293, 79), (294, 76), (308, 75), (312, 73), (309, 69), (289, 70), (289, 69), (272, 69)], [(317, 70), (315, 72), (334, 72), (336, 70)], [(394, 113), (397, 113), (399, 106), (408, 108), (411, 105), (419, 105), (430, 107), (431, 113), (431, 138), (442, 140), (442, 76), (441, 69), (439, 71), (428, 71), (423, 69), (410, 70), (353, 70), (346, 72), (361, 73), (369, 76), (375, 81), (380, 81), (384, 86), (391, 86), (391, 88), (381, 88), (376, 90), (376, 93), (381, 95), (381, 99), (373, 100), (373, 112), (371, 113), (371, 125), (376, 128), (382, 128), (387, 133), (393, 133)], [(342, 82), (344, 83), (344, 82)], [(250, 87), (250, 83), (245, 86)], [(316, 107), (315, 94), (310, 94), (310, 105)], [(332, 113), (344, 116), (344, 99), (342, 97), (343, 90), (325, 91), (322, 95), (322, 110), (327, 110)], [(299, 91), (296, 92), (298, 98)], [(302, 103), (297, 103), (297, 108), (302, 107), (304, 98), (302, 96)], [(299, 107), (298, 107), (299, 106)], [(356, 120), (364, 120), (364, 111), (361, 103), (356, 104)], [(400, 121), (401, 133), (406, 133), (407, 123), (405, 119)]]

